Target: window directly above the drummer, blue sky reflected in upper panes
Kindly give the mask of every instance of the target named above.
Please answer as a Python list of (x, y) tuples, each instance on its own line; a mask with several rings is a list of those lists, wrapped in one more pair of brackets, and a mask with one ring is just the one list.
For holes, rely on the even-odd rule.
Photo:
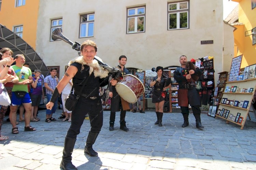
[(145, 32), (145, 6), (127, 8), (127, 33)]

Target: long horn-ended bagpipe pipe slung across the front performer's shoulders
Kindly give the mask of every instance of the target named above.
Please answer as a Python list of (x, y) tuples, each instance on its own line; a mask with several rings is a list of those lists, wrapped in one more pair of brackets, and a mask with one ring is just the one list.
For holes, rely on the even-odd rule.
[[(72, 41), (70, 41), (67, 37), (65, 37), (63, 34), (62, 34), (62, 29), (60, 27), (56, 28), (53, 33), (52, 33), (52, 39), (55, 41), (57, 39), (61, 39), (63, 41), (65, 41), (66, 43), (70, 44), (72, 46), (72, 49), (78, 51), (78, 54), (81, 55), (81, 44), (77, 43), (75, 41), (75, 43), (73, 43)], [(114, 79), (119, 79), (120, 78), (120, 75), (122, 74), (121, 71), (115, 67), (110, 67), (108, 64), (106, 63), (103, 63), (101, 61), (99, 61), (97, 58), (94, 58), (94, 60), (96, 60), (99, 65), (103, 68), (105, 68), (106, 70), (108, 70), (111, 74), (109, 76), (109, 83), (108, 83), (108, 87), (105, 91), (105, 96), (104, 96), (104, 100), (105, 100), (105, 103), (108, 103), (108, 99), (109, 99), (109, 88), (111, 87), (111, 83), (110, 83), (110, 80), (112, 80), (112, 78)]]

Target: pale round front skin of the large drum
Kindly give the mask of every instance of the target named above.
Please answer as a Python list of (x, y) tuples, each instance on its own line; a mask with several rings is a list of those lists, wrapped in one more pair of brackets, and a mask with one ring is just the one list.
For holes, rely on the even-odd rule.
[(128, 103), (136, 103), (137, 98), (134, 92), (125, 84), (117, 83), (116, 91), (120, 97), (122, 97)]

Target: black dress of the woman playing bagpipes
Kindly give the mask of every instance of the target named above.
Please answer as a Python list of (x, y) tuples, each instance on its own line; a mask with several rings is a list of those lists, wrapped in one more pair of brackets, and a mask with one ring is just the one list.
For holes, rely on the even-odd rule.
[[(157, 76), (153, 78), (153, 81), (157, 79)], [(153, 93), (152, 93), (152, 103), (159, 103), (165, 98), (162, 97), (162, 91), (163, 91), (163, 85), (165, 84), (165, 79), (161, 77), (160, 82), (156, 82), (155, 85), (153, 86)]]

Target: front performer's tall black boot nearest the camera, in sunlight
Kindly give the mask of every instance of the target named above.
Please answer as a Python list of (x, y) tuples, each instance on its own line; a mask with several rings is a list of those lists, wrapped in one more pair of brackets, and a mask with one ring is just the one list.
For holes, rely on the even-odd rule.
[(64, 170), (75, 170), (77, 169), (71, 162), (72, 152), (75, 146), (75, 138), (66, 137), (63, 149), (63, 156), (60, 163), (60, 168)]

